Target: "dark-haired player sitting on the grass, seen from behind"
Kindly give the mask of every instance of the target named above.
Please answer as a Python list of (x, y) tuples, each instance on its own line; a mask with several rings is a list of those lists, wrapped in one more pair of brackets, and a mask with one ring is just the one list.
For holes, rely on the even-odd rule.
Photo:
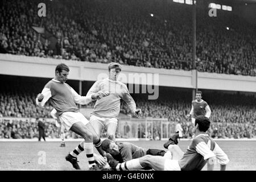
[[(200, 115), (196, 117), (194, 132), (196, 137), (183, 154), (179, 146), (171, 144), (169, 141), (168, 150), (173, 153), (172, 159), (162, 156), (145, 155), (142, 158), (132, 159), (127, 162), (118, 163), (114, 159), (109, 159), (109, 165), (115, 170), (135, 170), (144, 167), (151, 167), (158, 171), (200, 171), (208, 162), (208, 170), (213, 170), (216, 158), (220, 163), (221, 171), (225, 171), (226, 164), (229, 163), (228, 156), (218, 146), (216, 142), (206, 133), (210, 127), (209, 118)], [(180, 158), (180, 156), (182, 156)], [(175, 158), (174, 158), (175, 157)]]

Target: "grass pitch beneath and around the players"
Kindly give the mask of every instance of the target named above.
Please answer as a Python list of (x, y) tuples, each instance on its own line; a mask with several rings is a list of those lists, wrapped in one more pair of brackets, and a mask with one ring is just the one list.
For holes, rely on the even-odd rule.
[[(164, 149), (165, 141), (132, 141), (144, 148)], [(181, 140), (179, 146), (185, 151), (190, 141)], [(227, 171), (256, 171), (256, 141), (217, 141), (229, 157)], [(0, 142), (0, 170), (46, 170), (67, 171), (73, 169), (65, 156), (79, 142), (66, 142), (66, 147), (59, 147), (60, 142)], [(44, 158), (45, 157), (45, 158)], [(88, 170), (85, 152), (79, 157), (82, 170)], [(220, 169), (216, 164), (214, 170)], [(207, 170), (205, 166), (203, 170)]]

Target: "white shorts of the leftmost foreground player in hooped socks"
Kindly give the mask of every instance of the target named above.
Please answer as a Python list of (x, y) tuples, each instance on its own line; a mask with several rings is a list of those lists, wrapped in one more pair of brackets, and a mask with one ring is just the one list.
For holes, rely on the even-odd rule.
[(82, 115), (82, 113), (79, 112), (64, 112), (60, 115), (60, 122), (62, 125), (65, 126), (65, 129), (69, 130), (71, 129), (72, 125), (74, 125), (77, 122), (82, 122), (84, 125), (87, 125), (89, 123), (88, 119)]

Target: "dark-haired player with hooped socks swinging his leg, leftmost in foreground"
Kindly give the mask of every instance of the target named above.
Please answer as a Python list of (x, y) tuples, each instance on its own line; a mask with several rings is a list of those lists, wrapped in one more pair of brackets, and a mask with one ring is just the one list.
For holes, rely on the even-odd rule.
[[(101, 139), (95, 133), (89, 121), (79, 112), (76, 104), (88, 104), (92, 100), (97, 100), (108, 96), (108, 92), (97, 92), (91, 96), (80, 96), (67, 83), (69, 68), (61, 63), (55, 69), (55, 78), (49, 81), (42, 90), (42, 93), (36, 97), (36, 105), (44, 107), (49, 100), (51, 105), (56, 109), (57, 114), (65, 129), (71, 130), (84, 138), (84, 142), (80, 143), (79, 150), (85, 150), (86, 157), (89, 162), (89, 168), (96, 168), (93, 156), (93, 143), (101, 144)], [(73, 167), (80, 169), (77, 163), (77, 155), (74, 152), (68, 154), (65, 158), (72, 163)]]

